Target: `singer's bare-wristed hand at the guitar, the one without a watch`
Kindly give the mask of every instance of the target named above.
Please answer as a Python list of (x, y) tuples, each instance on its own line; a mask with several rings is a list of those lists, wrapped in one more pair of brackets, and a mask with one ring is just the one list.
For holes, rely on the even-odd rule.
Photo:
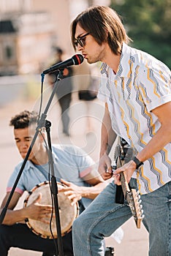
[(104, 181), (107, 179), (111, 178), (113, 176), (113, 170), (111, 167), (111, 159), (107, 154), (104, 154), (100, 159), (99, 159), (99, 167), (98, 171)]

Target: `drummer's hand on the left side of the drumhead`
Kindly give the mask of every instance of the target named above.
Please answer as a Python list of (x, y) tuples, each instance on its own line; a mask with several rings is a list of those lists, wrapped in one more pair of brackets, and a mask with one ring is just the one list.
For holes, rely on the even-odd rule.
[(39, 193), (37, 199), (33, 201), (26, 209), (26, 218), (28, 219), (36, 219), (44, 223), (49, 223), (49, 219), (51, 217), (52, 206), (50, 205), (42, 205), (40, 204), (40, 200), (42, 198), (42, 194)]

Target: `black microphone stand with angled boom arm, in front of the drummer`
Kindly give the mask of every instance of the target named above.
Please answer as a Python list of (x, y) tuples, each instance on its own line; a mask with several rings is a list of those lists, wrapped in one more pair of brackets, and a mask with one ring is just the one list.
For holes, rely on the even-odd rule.
[(62, 246), (61, 225), (60, 225), (59, 211), (58, 211), (58, 197), (57, 197), (58, 187), (57, 187), (56, 177), (54, 176), (53, 156), (52, 156), (52, 148), (51, 148), (51, 142), (50, 142), (50, 125), (51, 124), (50, 124), (49, 121), (46, 121), (45, 118), (47, 117), (47, 111), (49, 110), (50, 104), (51, 104), (51, 102), (53, 100), (53, 97), (54, 97), (54, 95), (56, 93), (56, 89), (58, 87), (58, 81), (61, 80), (61, 78), (63, 77), (63, 71), (64, 71), (64, 69), (59, 69), (58, 77), (57, 77), (56, 83), (55, 83), (55, 85), (53, 87), (52, 94), (50, 95), (50, 99), (47, 102), (47, 106), (45, 108), (44, 113), (42, 113), (42, 116), (41, 116), (41, 118), (38, 121), (37, 129), (36, 129), (36, 132), (34, 134), (34, 138), (31, 141), (31, 145), (28, 148), (28, 152), (26, 154), (26, 157), (23, 160), (22, 166), (20, 167), (20, 171), (19, 171), (18, 176), (17, 176), (17, 178), (15, 180), (15, 184), (12, 187), (12, 191), (9, 194), (7, 203), (5, 204), (4, 208), (2, 209), (1, 215), (0, 215), (0, 225), (1, 225), (3, 220), (4, 220), (5, 215), (7, 213), (7, 209), (8, 209), (9, 203), (10, 203), (10, 201), (12, 199), (12, 195), (15, 192), (15, 188), (17, 187), (18, 181), (20, 180), (20, 176), (23, 173), (23, 169), (24, 169), (24, 167), (26, 165), (26, 162), (28, 160), (28, 157), (29, 157), (29, 155), (31, 153), (31, 149), (34, 146), (34, 143), (35, 143), (35, 141), (37, 139), (37, 136), (38, 136), (39, 132), (41, 132), (42, 127), (46, 127), (47, 141), (48, 141), (48, 145), (49, 145), (49, 148), (50, 148), (50, 153), (48, 154), (48, 157), (50, 158), (49, 161), (50, 161), (50, 167), (51, 167), (51, 172), (52, 172), (52, 177), (51, 177), (51, 184), (52, 185), (51, 186), (52, 186), (53, 200), (54, 200), (55, 214), (56, 214), (56, 227), (57, 227), (57, 234), (58, 234), (57, 241), (58, 241), (58, 255), (59, 256), (64, 256), (64, 252), (63, 252), (63, 246)]

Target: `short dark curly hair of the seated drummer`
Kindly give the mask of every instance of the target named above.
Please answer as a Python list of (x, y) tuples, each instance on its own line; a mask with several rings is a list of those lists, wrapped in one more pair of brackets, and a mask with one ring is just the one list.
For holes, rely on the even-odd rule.
[(23, 129), (29, 127), (31, 124), (36, 124), (37, 120), (37, 112), (23, 110), (22, 112), (11, 118), (9, 126), (14, 127), (14, 129)]

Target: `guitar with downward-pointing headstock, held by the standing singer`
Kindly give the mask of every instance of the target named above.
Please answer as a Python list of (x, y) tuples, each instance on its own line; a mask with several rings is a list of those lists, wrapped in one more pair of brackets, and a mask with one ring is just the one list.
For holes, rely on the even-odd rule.
[[(121, 146), (122, 145), (122, 146)], [(129, 162), (130, 155), (132, 154), (132, 148), (123, 147), (123, 144), (118, 144), (115, 148), (115, 165), (112, 165), (112, 169), (115, 170), (117, 167), (121, 167), (124, 162)], [(141, 200), (140, 200), (140, 192), (136, 191), (134, 188), (130, 188), (129, 184), (126, 181), (125, 175), (123, 172), (121, 174), (121, 188), (123, 192), (124, 198), (129, 203), (129, 207), (132, 211), (132, 216), (134, 217), (134, 221), (136, 223), (137, 228), (140, 228), (142, 219), (144, 217)], [(119, 187), (119, 186), (118, 186)]]

